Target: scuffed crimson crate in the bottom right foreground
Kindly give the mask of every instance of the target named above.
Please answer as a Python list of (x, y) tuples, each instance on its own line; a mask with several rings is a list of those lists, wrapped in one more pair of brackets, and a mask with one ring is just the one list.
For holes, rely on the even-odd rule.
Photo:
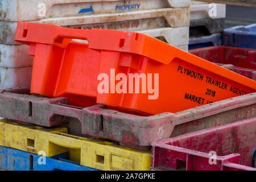
[(153, 142), (152, 168), (256, 171), (250, 167), (255, 144), (256, 117)]

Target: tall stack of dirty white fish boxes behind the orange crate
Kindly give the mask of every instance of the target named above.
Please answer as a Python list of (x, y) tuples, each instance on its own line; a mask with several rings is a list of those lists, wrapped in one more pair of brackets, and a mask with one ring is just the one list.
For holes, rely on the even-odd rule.
[(0, 87), (30, 86), (32, 57), (28, 46), (14, 41), (18, 21), (137, 31), (187, 51), (189, 6), (190, 0), (3, 0)]

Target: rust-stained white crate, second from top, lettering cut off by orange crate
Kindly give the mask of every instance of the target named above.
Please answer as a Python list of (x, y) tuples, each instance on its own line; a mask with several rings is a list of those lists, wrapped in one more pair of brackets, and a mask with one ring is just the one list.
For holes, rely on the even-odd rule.
[[(61, 27), (79, 28), (85, 30), (91, 30), (92, 28), (103, 28), (123, 31), (141, 31), (161, 27), (189, 26), (189, 9), (153, 9), (126, 13), (48, 18), (34, 22), (55, 24)], [(1, 44), (19, 44), (18, 42), (14, 41), (17, 23), (18, 22), (0, 22)]]

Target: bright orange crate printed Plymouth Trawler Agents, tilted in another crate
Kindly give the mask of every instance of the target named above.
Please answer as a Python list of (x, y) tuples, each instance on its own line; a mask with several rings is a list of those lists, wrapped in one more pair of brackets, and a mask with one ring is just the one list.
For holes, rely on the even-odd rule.
[[(72, 39), (88, 40), (89, 44)], [(256, 82), (250, 78), (136, 32), (77, 30), (19, 22), (15, 40), (30, 45), (29, 53), (34, 56), (31, 93), (65, 96), (75, 106), (97, 102), (146, 114), (175, 113), (256, 90)], [(101, 79), (97, 80), (100, 73), (109, 77), (109, 88), (103, 87), (108, 93), (97, 92), (102, 84)], [(127, 78), (123, 87), (115, 80), (118, 73)], [(142, 92), (142, 78), (139, 93), (134, 93), (137, 84), (133, 80), (129, 87), (129, 73), (151, 73), (153, 89), (154, 76), (158, 74), (158, 94), (156, 90), (149, 92), (148, 76), (146, 93)], [(132, 86), (133, 93), (129, 93)], [(127, 93), (115, 90), (125, 87)]]

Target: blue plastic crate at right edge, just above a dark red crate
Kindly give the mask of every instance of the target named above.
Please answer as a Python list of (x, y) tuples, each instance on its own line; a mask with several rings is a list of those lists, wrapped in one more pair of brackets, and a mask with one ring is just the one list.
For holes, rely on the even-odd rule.
[(256, 49), (256, 23), (225, 29), (223, 45)]

